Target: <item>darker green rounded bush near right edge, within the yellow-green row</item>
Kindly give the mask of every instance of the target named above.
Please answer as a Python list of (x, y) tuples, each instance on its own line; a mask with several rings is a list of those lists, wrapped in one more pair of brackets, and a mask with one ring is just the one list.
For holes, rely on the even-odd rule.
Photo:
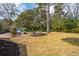
[(77, 32), (77, 22), (72, 19), (64, 21), (64, 32)]

